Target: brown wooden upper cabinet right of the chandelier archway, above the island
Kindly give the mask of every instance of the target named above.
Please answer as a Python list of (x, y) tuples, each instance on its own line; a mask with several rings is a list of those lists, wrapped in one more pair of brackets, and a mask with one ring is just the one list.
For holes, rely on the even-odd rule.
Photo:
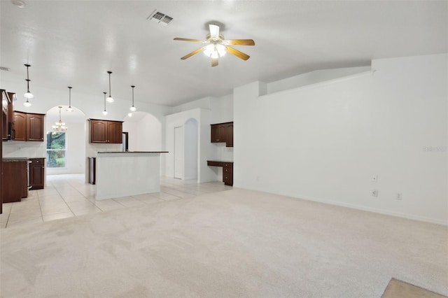
[(123, 142), (123, 121), (90, 119), (90, 143)]

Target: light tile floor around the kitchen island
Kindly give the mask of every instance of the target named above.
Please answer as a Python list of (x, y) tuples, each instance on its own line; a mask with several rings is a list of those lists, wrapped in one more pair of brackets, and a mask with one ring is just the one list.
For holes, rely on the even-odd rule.
[(3, 204), (0, 227), (38, 225), (50, 220), (60, 220), (119, 208), (144, 206), (172, 199), (189, 199), (200, 194), (230, 190), (220, 181), (197, 183), (193, 180), (160, 178), (160, 192), (131, 197), (94, 199), (95, 186), (85, 183), (84, 174), (47, 176), (43, 190), (30, 190), (22, 201)]

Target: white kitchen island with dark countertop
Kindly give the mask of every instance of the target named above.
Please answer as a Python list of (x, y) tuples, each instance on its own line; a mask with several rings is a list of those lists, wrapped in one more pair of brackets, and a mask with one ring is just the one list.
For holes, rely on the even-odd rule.
[(97, 152), (95, 199), (160, 192), (161, 153)]

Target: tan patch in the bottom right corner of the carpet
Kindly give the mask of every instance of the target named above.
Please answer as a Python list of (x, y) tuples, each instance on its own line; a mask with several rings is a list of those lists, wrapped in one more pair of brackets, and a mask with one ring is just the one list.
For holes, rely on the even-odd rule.
[(398, 281), (398, 279), (392, 278), (387, 285), (381, 298), (447, 298), (447, 296), (431, 292), (429, 290), (405, 283), (404, 281)]

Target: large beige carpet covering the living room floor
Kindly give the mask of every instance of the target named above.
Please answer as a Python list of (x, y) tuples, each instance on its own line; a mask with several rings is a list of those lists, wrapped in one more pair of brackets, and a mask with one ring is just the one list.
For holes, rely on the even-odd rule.
[(448, 294), (447, 227), (249, 190), (1, 230), (1, 297)]

